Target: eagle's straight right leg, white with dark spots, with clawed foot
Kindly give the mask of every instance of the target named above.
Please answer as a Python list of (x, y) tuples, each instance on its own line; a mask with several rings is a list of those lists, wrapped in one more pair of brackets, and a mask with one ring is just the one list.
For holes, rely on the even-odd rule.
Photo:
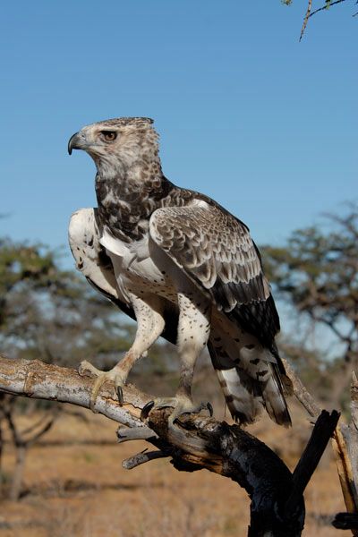
[(192, 377), (195, 363), (208, 343), (210, 333), (210, 304), (209, 299), (197, 293), (179, 293), (179, 323), (178, 323), (178, 354), (181, 360), (179, 386), (175, 397), (159, 397), (146, 405), (141, 417), (148, 416), (153, 408), (173, 407), (174, 410), (168, 418), (169, 427), (183, 413), (199, 413), (208, 409), (212, 415), (212, 406), (209, 403), (195, 405), (192, 401)]

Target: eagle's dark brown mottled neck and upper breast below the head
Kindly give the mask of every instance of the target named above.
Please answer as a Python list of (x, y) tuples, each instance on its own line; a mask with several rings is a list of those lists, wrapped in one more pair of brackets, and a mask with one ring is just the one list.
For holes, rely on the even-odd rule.
[(163, 200), (174, 188), (162, 173), (160, 161), (143, 158), (132, 166), (114, 170), (98, 166), (96, 194), (98, 215), (117, 238), (130, 242), (148, 232), (149, 217), (163, 206)]

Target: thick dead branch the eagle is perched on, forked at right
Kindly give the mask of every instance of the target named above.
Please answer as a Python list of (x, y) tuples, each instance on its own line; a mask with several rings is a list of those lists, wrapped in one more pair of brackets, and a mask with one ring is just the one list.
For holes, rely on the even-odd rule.
[[(80, 376), (71, 369), (0, 357), (0, 392), (7, 394), (90, 408), (92, 383), (93, 378)], [(124, 388), (124, 405), (120, 406), (111, 381), (102, 387), (98, 396), (96, 411), (126, 426), (119, 430), (119, 441), (146, 439), (158, 448), (155, 452), (132, 456), (124, 462), (125, 467), (170, 456), (178, 470), (193, 472), (206, 468), (219, 473), (237, 482), (251, 498), (250, 537), (301, 535), (303, 490), (336, 428), (337, 412), (329, 415), (323, 411), (293, 477), (269, 447), (238, 425), (190, 415), (168, 428), (170, 409), (149, 412), (144, 424), (140, 419), (141, 411), (149, 400), (148, 395), (128, 385)]]

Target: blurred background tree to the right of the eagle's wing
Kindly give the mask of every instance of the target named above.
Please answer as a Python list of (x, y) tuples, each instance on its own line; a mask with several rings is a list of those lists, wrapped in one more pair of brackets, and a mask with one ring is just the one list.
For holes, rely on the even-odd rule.
[[(326, 226), (295, 231), (285, 246), (266, 246), (266, 271), (277, 294), (330, 341), (330, 361), (307, 345), (287, 344), (287, 354), (309, 364), (332, 384), (334, 402), (345, 393), (358, 366), (358, 205), (345, 214), (326, 215)], [(320, 347), (322, 353), (323, 347)], [(300, 368), (301, 369), (301, 368)]]

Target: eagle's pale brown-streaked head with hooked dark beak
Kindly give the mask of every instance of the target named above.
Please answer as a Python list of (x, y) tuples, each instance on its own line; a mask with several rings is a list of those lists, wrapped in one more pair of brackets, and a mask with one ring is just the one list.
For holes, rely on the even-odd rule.
[(86, 125), (72, 135), (68, 152), (86, 151), (99, 169), (131, 166), (158, 159), (158, 134), (148, 117), (118, 117)]

